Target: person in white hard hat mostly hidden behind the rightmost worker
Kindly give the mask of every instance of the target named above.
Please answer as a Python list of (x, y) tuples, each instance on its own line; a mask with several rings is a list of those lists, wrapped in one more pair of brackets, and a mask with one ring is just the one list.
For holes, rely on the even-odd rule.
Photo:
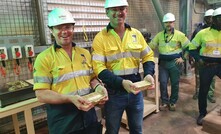
[[(213, 16), (213, 9), (209, 9), (205, 12), (204, 14), (204, 22), (205, 23), (200, 23), (196, 30), (193, 32), (193, 35), (191, 37), (191, 40), (196, 36), (196, 34), (202, 30), (205, 29), (207, 27), (210, 27), (212, 25), (212, 16)], [(190, 58), (192, 59), (192, 58)], [(193, 95), (193, 99), (196, 100), (198, 98), (198, 94), (199, 94), (199, 87), (200, 87), (200, 83), (199, 83), (199, 63), (198, 62), (191, 62), (194, 64), (195, 66), (195, 82), (196, 82), (196, 89), (195, 89), (195, 94)], [(214, 89), (215, 89), (215, 78), (213, 78), (212, 83), (210, 84), (210, 89), (208, 92), (208, 96), (207, 99), (211, 102), (211, 103), (215, 103), (216, 99), (214, 97)]]

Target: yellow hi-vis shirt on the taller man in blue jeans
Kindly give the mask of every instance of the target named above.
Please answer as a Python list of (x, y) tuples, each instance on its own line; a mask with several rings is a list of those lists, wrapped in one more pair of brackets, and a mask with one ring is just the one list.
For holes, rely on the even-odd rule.
[(121, 38), (114, 31), (104, 28), (93, 41), (93, 70), (96, 75), (105, 69), (115, 75), (139, 73), (140, 59), (142, 63), (154, 62), (154, 53), (147, 45), (143, 35), (134, 28), (126, 28)]

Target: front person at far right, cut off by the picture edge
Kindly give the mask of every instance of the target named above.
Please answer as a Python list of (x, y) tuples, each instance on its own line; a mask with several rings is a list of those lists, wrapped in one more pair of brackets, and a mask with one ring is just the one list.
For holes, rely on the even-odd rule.
[(221, 78), (221, 7), (214, 10), (212, 20), (212, 26), (199, 31), (189, 45), (190, 55), (199, 62), (198, 125), (202, 125), (207, 114), (210, 83), (215, 75)]

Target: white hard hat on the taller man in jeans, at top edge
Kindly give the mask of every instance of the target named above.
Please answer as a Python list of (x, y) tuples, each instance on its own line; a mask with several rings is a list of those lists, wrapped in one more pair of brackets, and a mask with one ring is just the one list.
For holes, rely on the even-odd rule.
[(127, 0), (106, 0), (104, 8), (128, 6)]

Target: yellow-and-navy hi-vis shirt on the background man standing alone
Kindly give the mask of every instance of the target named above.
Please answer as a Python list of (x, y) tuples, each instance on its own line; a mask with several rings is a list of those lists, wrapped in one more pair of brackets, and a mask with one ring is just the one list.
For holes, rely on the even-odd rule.
[(160, 59), (175, 59), (182, 56), (182, 51), (185, 50), (190, 43), (184, 33), (174, 29), (172, 34), (167, 34), (166, 31), (159, 32), (149, 46), (152, 49), (158, 49)]

